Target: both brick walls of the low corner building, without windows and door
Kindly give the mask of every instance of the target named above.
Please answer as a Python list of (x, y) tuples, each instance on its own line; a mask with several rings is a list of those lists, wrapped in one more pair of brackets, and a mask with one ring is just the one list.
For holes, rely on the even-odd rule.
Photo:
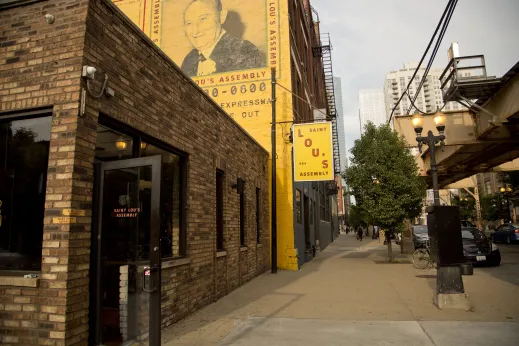
[[(47, 13), (55, 16), (53, 24), (45, 21)], [(80, 117), (85, 64), (98, 69), (98, 79), (107, 73), (116, 95), (89, 96)], [(163, 326), (268, 268), (267, 153), (179, 71), (107, 0), (47, 0), (0, 10), (1, 114), (47, 107), (53, 115), (41, 277), (28, 279), (33, 287), (0, 277), (0, 343), (87, 343), (100, 114), (188, 154), (188, 256), (163, 265)], [(216, 168), (225, 172), (226, 252), (218, 258)], [(238, 177), (246, 181), (247, 248), (240, 248), (239, 195), (231, 187)], [(262, 246), (256, 244), (256, 187), (261, 189)], [(84, 216), (63, 218), (69, 209)]]

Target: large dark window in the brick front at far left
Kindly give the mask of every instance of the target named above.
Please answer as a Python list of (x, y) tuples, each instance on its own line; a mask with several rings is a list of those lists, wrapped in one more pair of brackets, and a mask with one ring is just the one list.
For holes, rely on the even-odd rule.
[(51, 125), (0, 119), (0, 269), (41, 269)]

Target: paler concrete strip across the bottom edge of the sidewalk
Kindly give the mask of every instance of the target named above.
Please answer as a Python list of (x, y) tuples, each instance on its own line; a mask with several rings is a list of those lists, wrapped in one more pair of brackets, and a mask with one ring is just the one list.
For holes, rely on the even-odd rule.
[(251, 317), (222, 345), (503, 346), (517, 345), (516, 323), (338, 321)]

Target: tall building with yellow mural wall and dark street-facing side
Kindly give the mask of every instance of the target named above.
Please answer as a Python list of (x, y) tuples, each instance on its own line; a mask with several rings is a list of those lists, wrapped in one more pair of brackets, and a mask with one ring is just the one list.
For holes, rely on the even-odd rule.
[[(300, 269), (339, 229), (337, 184), (333, 180), (303, 184), (294, 179), (292, 125), (316, 119), (335, 122), (336, 116), (332, 47), (329, 36), (320, 32), (311, 1), (114, 3), (269, 151), (275, 69), (277, 264), (280, 269)], [(336, 124), (334, 129), (338, 174)]]

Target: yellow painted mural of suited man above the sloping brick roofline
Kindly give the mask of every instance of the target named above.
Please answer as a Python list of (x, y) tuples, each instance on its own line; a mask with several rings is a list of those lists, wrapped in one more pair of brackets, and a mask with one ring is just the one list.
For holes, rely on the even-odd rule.
[(267, 142), (270, 131), (259, 125), (270, 123), (271, 67), (281, 75), (278, 0), (114, 3), (233, 119)]

